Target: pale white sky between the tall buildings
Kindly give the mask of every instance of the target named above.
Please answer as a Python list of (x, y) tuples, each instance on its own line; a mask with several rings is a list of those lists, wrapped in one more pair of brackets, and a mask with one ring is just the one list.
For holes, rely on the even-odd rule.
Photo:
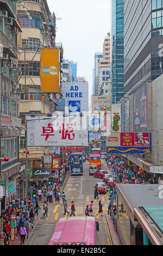
[(62, 42), (64, 59), (78, 62), (77, 76), (89, 82), (92, 94), (92, 70), (95, 52), (103, 51), (104, 38), (111, 32), (111, 0), (47, 0), (57, 18), (56, 42)]

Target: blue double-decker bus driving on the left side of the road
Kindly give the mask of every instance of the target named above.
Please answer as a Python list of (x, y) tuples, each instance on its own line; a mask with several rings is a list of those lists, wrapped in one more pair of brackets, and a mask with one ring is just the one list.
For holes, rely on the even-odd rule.
[(83, 154), (82, 152), (72, 153), (70, 155), (71, 175), (83, 175)]

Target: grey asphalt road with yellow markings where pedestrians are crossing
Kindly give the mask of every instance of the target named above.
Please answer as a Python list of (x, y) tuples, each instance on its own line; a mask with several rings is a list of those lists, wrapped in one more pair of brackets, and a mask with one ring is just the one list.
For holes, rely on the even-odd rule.
[[(108, 170), (104, 160), (102, 160), (102, 169)], [(109, 170), (108, 170), (109, 171)], [(90, 204), (91, 200), (93, 203), (93, 216), (99, 222), (99, 232), (97, 232), (97, 245), (112, 245), (111, 235), (106, 222), (107, 217), (107, 202), (108, 194), (99, 194), (99, 200), (102, 201), (104, 216), (101, 214), (97, 217), (98, 212), (98, 199), (93, 198), (93, 188), (96, 182), (99, 182), (97, 178), (89, 175), (89, 162), (84, 163), (83, 176), (69, 176), (65, 184), (64, 192), (67, 197), (68, 211), (71, 212), (71, 200), (74, 201), (76, 207), (77, 216), (84, 216), (84, 211), (87, 204)], [(28, 245), (48, 245), (49, 240), (54, 232), (55, 225), (61, 217), (64, 215), (64, 205), (62, 202), (57, 205), (56, 203), (48, 204), (48, 217), (40, 218), (36, 224), (34, 232), (28, 241)], [(41, 205), (39, 215), (42, 216), (44, 210)]]

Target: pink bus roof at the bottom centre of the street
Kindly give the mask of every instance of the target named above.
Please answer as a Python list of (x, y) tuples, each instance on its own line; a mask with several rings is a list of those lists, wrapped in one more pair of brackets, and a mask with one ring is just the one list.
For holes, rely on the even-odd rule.
[(95, 245), (95, 217), (60, 218), (49, 245), (56, 243), (86, 243)]

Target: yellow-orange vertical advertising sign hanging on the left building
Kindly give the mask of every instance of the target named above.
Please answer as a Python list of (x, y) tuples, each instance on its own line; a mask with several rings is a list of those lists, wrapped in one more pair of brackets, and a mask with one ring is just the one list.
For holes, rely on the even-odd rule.
[(41, 92), (58, 93), (60, 88), (60, 49), (41, 49)]

